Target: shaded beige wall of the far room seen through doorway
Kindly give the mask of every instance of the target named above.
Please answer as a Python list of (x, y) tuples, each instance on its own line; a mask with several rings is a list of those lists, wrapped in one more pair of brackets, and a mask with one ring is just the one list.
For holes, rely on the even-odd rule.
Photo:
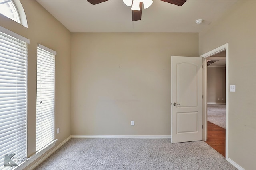
[[(207, 102), (226, 102), (226, 69), (225, 67), (207, 67)], [(222, 100), (223, 99), (223, 100)]]

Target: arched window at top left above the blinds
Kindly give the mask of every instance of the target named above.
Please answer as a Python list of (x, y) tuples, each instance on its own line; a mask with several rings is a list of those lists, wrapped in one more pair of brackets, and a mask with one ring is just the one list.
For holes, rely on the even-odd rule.
[(19, 0), (0, 0), (0, 13), (28, 27), (26, 14)]

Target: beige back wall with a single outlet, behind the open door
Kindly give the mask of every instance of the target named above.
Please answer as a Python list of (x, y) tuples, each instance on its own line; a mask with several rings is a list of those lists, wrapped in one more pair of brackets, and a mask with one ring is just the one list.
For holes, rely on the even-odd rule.
[(171, 135), (171, 56), (198, 57), (198, 33), (72, 33), (71, 42), (72, 135)]

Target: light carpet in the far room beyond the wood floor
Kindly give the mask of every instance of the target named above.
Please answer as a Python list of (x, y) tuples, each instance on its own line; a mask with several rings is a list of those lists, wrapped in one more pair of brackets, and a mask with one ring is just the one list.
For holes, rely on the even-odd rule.
[(207, 121), (226, 129), (226, 105), (208, 104)]

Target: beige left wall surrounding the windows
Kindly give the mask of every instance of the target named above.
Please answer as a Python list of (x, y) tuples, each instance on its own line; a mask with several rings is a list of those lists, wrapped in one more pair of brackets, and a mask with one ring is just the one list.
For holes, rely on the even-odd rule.
[(1, 15), (0, 25), (30, 39), (28, 44), (28, 156), (36, 152), (36, 56), (40, 43), (57, 52), (55, 75), (55, 127), (60, 127), (56, 145), (70, 133), (71, 33), (36, 1), (21, 1), (28, 28)]

